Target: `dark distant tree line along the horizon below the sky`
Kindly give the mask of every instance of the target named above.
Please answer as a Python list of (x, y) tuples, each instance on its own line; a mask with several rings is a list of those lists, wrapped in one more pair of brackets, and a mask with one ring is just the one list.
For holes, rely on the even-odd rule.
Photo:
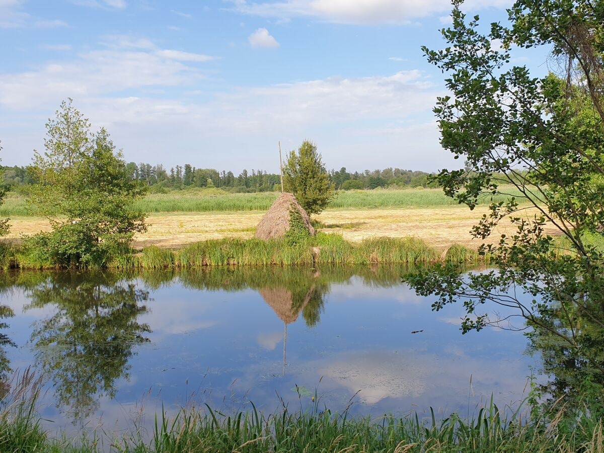
[[(1, 166), (4, 170), (4, 186), (9, 190), (22, 185), (36, 184), (36, 178), (27, 167)], [(265, 170), (243, 170), (239, 175), (233, 172), (215, 169), (196, 168), (191, 164), (176, 165), (165, 169), (164, 165), (151, 165), (144, 162), (126, 164), (129, 175), (146, 184), (150, 191), (162, 192), (191, 187), (217, 187), (231, 192), (266, 192), (280, 190), (280, 176)], [(384, 170), (365, 170), (348, 172), (345, 167), (330, 170), (329, 179), (338, 190), (374, 189), (377, 187), (431, 187), (429, 173), (413, 170), (387, 168)]]

